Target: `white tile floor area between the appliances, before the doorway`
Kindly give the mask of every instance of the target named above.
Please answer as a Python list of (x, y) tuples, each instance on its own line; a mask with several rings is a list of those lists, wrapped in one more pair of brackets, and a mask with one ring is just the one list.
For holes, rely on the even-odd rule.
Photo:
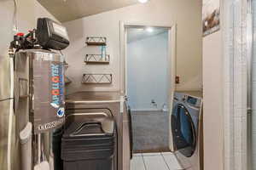
[(131, 170), (182, 170), (171, 152), (134, 154)]

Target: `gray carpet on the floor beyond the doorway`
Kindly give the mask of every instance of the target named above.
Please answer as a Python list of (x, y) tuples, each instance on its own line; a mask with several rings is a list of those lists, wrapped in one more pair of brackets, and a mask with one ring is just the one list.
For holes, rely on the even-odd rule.
[(162, 111), (132, 111), (134, 152), (169, 151), (169, 115)]

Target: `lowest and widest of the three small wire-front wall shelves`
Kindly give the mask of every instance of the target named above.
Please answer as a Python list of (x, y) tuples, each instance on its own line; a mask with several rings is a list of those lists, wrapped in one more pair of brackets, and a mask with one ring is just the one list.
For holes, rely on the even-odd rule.
[(112, 74), (84, 74), (82, 83), (84, 84), (111, 84)]

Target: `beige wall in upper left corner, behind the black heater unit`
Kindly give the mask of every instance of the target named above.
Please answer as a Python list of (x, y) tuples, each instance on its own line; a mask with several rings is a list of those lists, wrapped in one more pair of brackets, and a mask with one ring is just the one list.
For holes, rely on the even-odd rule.
[[(25, 34), (37, 26), (38, 17), (48, 17), (55, 20), (49, 12), (36, 0), (17, 1), (17, 24), (20, 32)], [(8, 54), (9, 42), (13, 40), (13, 14), (14, 2), (12, 0), (0, 1), (0, 57)]]

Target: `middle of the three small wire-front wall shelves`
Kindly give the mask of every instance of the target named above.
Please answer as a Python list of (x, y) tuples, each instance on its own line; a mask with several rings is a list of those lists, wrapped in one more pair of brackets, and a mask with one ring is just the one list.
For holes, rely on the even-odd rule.
[(86, 64), (109, 64), (110, 56), (108, 54), (86, 54), (84, 63)]

